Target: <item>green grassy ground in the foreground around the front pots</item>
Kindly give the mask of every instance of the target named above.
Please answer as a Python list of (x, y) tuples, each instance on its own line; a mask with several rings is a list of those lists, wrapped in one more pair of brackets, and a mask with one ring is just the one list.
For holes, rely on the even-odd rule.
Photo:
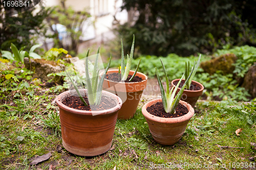
[[(139, 107), (134, 118), (117, 120), (112, 150), (95, 157), (81, 157), (63, 147), (57, 151), (57, 147), (62, 146), (61, 136), (56, 133), (58, 119), (48, 116), (57, 112), (57, 107), (47, 105), (50, 102), (46, 101), (53, 98), (44, 95), (42, 99), (38, 105), (41, 111), (34, 111), (33, 102), (27, 102), (26, 108), (1, 107), (0, 169), (49, 169), (50, 165), (55, 169), (168, 169), (177, 164), (184, 169), (195, 169), (194, 164), (202, 165), (201, 169), (206, 169), (206, 165), (214, 167), (211, 169), (223, 169), (221, 165), (224, 164), (232, 169), (234, 162), (239, 165), (252, 163), (253, 167), (254, 161), (249, 158), (255, 156), (250, 145), (256, 137), (254, 103), (244, 105), (231, 100), (198, 103), (184, 135), (173, 146), (154, 141)], [(27, 114), (22, 109), (28, 112), (28, 108), (32, 108), (31, 116), (24, 119)], [(41, 119), (48, 120), (48, 126)], [(53, 126), (50, 128), (50, 125)], [(243, 131), (237, 136), (236, 130), (240, 128)], [(52, 154), (49, 160), (29, 165), (35, 156), (49, 152)], [(241, 169), (238, 164), (234, 167)]]

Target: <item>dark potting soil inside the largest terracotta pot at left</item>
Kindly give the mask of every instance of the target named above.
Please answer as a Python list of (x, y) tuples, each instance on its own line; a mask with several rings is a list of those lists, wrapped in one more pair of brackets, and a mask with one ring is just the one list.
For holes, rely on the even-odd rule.
[(65, 98), (62, 103), (68, 107), (78, 110), (87, 110), (87, 111), (98, 111), (98, 110), (106, 110), (111, 109), (116, 106), (115, 102), (106, 96), (101, 96), (101, 101), (99, 105), (89, 105), (89, 101), (87, 96), (83, 97), (84, 101), (88, 104), (88, 106), (84, 106), (82, 101), (78, 96), (68, 96)]

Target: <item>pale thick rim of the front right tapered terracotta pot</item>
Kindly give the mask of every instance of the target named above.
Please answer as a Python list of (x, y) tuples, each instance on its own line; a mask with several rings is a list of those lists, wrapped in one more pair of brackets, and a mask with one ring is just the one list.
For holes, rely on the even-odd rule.
[(152, 106), (153, 104), (157, 102), (162, 102), (162, 99), (155, 99), (150, 102), (147, 102), (143, 107), (142, 107), (142, 114), (145, 116), (145, 118), (150, 119), (154, 122), (159, 122), (159, 123), (165, 123), (165, 124), (173, 124), (173, 123), (178, 123), (178, 122), (184, 122), (185, 120), (189, 120), (191, 117), (193, 117), (195, 110), (194, 108), (188, 104), (187, 102), (181, 101), (180, 104), (185, 106), (188, 109), (188, 113), (180, 116), (180, 117), (174, 117), (174, 118), (165, 118), (165, 117), (158, 117), (153, 114), (150, 114), (147, 112), (147, 108)]

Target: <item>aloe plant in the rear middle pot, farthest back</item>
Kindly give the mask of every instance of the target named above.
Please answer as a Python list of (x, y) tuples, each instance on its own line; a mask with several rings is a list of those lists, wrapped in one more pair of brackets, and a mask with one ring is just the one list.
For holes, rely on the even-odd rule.
[[(124, 66), (124, 54), (123, 54), (123, 42), (122, 42), (122, 39), (121, 39), (121, 81), (125, 81), (128, 76), (129, 76), (129, 72), (131, 70), (131, 66), (132, 66), (132, 61), (133, 61), (133, 53), (134, 53), (134, 41), (135, 41), (135, 37), (133, 35), (133, 44), (132, 44), (132, 48), (131, 48), (131, 53), (130, 53), (130, 56), (127, 54), (127, 63), (126, 63), (126, 66)], [(135, 77), (136, 75), (136, 72), (139, 68), (139, 65), (140, 65), (140, 61), (136, 67), (136, 70), (133, 74), (133, 76), (131, 77), (131, 79), (129, 81), (132, 81), (133, 78)]]

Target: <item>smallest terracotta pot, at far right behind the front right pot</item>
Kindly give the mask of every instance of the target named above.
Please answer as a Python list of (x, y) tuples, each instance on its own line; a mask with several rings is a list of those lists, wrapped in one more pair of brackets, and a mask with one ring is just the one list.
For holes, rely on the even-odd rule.
[[(175, 79), (172, 81), (172, 86), (174, 85), (174, 82), (178, 82), (180, 79)], [(182, 79), (185, 81), (185, 79)], [(204, 86), (201, 83), (198, 83), (196, 81), (192, 80), (192, 83), (196, 84), (199, 86), (201, 89), (200, 90), (184, 90), (181, 96), (181, 100), (189, 103), (192, 107), (195, 107), (198, 98), (203, 94)], [(192, 84), (191, 83), (191, 84)], [(180, 91), (181, 88), (178, 87), (176, 94)]]

